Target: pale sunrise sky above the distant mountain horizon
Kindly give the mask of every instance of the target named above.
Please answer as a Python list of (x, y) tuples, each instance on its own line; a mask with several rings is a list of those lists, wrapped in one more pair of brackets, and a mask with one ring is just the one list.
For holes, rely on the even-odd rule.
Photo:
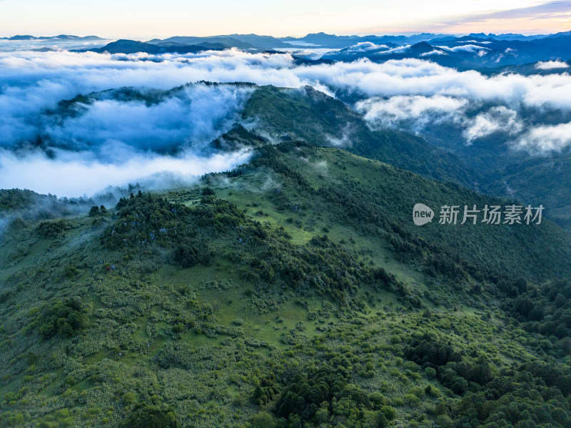
[(0, 0), (0, 36), (571, 31), (571, 0)]

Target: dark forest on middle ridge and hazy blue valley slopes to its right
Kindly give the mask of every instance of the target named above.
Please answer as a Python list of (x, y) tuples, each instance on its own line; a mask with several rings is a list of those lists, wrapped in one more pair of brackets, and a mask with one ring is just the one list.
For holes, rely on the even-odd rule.
[[(338, 91), (337, 96), (353, 104), (362, 94)], [(362, 116), (342, 101), (311, 87), (262, 86), (246, 104), (243, 118), (256, 123), (254, 131), (269, 133), (278, 141), (301, 138), (317, 146), (337, 146), (428, 178), (453, 181), (534, 206), (542, 204), (549, 218), (571, 230), (568, 149), (547, 153), (514, 150), (513, 136), (501, 132), (467, 144), (464, 126), (454, 121), (428, 121), (422, 136), (389, 128), (371, 131)], [(490, 107), (477, 103), (470, 108), (470, 116)], [(570, 120), (565, 112), (543, 108), (526, 108), (521, 115), (529, 123)], [(410, 129), (410, 123), (402, 125), (403, 129)]]

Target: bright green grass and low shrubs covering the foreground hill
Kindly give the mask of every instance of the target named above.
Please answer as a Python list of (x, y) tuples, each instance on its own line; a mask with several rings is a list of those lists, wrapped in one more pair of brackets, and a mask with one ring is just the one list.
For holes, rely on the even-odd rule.
[[(484, 353), (498, 371), (517, 371), (520, 363), (533, 360), (550, 361), (568, 370), (568, 362), (555, 351), (541, 350), (545, 337), (517, 327), (502, 308), (505, 300), (500, 295), (492, 296), (489, 290), (468, 295), (465, 288), (453, 288), (451, 280), (427, 275), (421, 260), (403, 258), (391, 246), (388, 235), (377, 228), (370, 232), (360, 228), (354, 216), (342, 216), (347, 207), (333, 204), (319, 192), (331, 186), (348, 189), (349, 195), (355, 189), (374, 190), (377, 193), (370, 193), (370, 198), (361, 198), (362, 205), (381, 210), (386, 218), (393, 215), (403, 225), (405, 219), (410, 220), (409, 199), (483, 196), (335, 149), (283, 153), (280, 161), (305, 181), (289, 180), (267, 167), (252, 167), (236, 177), (209, 176), (199, 185), (165, 195), (197, 207), (208, 185), (216, 198), (245, 211), (243, 224), (260, 222), (268, 233), (266, 242), (281, 242), (280, 237), (292, 245), (279, 248), (309, 248), (318, 253), (320, 248), (311, 240), (326, 234), (354, 255), (360, 266), (383, 267), (395, 275), (420, 296), (422, 308), (406, 305), (406, 295), (373, 283), (360, 283), (354, 294), (348, 292), (348, 304), (343, 307), (332, 295), (298, 292), (286, 286), (282, 277), (271, 285), (246, 279), (241, 268), (255, 268), (247, 258), (236, 261), (231, 255), (249, 255), (248, 251), (256, 249), (233, 253), (239, 247), (233, 242), (232, 228), (226, 235), (212, 235), (216, 252), (208, 266), (183, 269), (173, 264), (172, 248), (106, 248), (98, 237), (117, 221), (112, 212), (101, 218), (100, 225), (93, 225), (87, 217), (68, 218), (71, 228), (50, 240), (38, 239), (36, 223), (29, 222), (21, 232), (22, 239), (0, 245), (0, 254), (9, 255), (20, 243), (29, 243), (27, 253), (14, 259), (14, 265), (0, 267), (0, 293), (9, 291), (0, 306), (0, 347), (9, 361), (0, 367), (4, 379), (0, 397), (7, 397), (2, 402), (1, 423), (18, 426), (10, 418), (22, 412), (26, 414), (22, 426), (41, 422), (60, 426), (64, 422), (59, 419), (64, 418), (58, 412), (69, 408), (71, 426), (117, 426), (133, 409), (134, 403), (126, 395), (133, 392), (136, 402), (176, 407), (184, 427), (247, 427), (254, 414), (273, 412), (278, 391), (289, 382), (291, 373), (311, 373), (315, 365), (346, 358), (351, 384), (367, 394), (382, 392), (388, 397), (397, 414), (393, 425), (410, 422), (410, 426), (430, 427), (435, 419), (433, 409), (441, 399), (450, 417), (459, 419), (455, 409), (462, 397), (425, 374), (425, 367), (407, 360), (406, 347), (427, 332), (450, 342), (462, 353), (463, 361), (473, 362), (473, 355)], [(303, 183), (312, 190), (303, 190)], [(403, 190), (405, 184), (410, 185), (408, 190)], [(411, 195), (403, 195), (406, 192)], [(361, 197), (360, 193), (354, 196)], [(301, 207), (301, 212), (291, 209), (292, 205)], [(371, 212), (376, 213), (373, 208)], [(452, 245), (460, 245), (451, 238), (462, 234), (458, 231), (446, 230), (438, 240), (438, 230), (413, 230), (434, 242), (450, 244), (451, 240)], [(548, 226), (547, 235), (540, 238), (563, 240), (554, 230)], [(524, 229), (524, 233), (529, 231)], [(533, 233), (523, 236), (532, 243), (538, 239)], [(479, 237), (487, 240), (489, 258), (495, 257), (494, 245), (509, 242), (502, 233), (490, 236), (484, 230), (470, 235)], [(330, 257), (330, 253), (323, 254)], [(156, 258), (161, 263), (150, 270), (148, 266)], [(65, 277), (69, 265), (78, 272)], [(516, 271), (517, 266), (513, 267)], [(461, 285), (475, 282), (468, 277)], [(440, 304), (430, 300), (429, 293), (439, 297)], [(26, 330), (31, 314), (44, 302), (76, 295), (91, 305), (89, 328), (81, 334), (42, 342), (36, 332)], [(178, 325), (183, 325), (179, 335), (174, 330)], [(369, 369), (363, 375), (365, 367)], [(25, 377), (30, 373), (35, 377), (49, 374), (50, 379), (22, 389), (28, 386)], [(272, 374), (281, 382), (278, 389), (270, 401), (253, 403), (256, 386), (265, 384)], [(428, 384), (438, 392), (420, 394), (413, 389), (424, 390)], [(528, 389), (540, 389), (539, 384)], [(66, 393), (67, 389), (71, 392)], [(408, 396), (411, 390), (420, 397)], [(109, 421), (103, 423), (103, 417)]]

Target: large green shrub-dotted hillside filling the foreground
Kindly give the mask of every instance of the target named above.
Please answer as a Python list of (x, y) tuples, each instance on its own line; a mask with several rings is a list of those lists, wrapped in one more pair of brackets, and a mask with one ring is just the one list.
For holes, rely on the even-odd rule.
[[(246, 134), (244, 134), (246, 135)], [(571, 238), (335, 148), (0, 241), (3, 427), (567, 427)]]

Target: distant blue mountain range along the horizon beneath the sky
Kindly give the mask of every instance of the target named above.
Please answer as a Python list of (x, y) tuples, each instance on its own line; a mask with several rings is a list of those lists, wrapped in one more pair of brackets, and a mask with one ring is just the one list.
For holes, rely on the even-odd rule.
[[(97, 36), (79, 37), (61, 34), (51, 37), (13, 36), (5, 40), (103, 41), (104, 39)], [(311, 61), (316, 58), (320, 61), (355, 61), (359, 58), (368, 58), (371, 61), (383, 62), (390, 59), (419, 58), (459, 69), (504, 70), (507, 66), (521, 66), (537, 61), (569, 60), (571, 58), (571, 31), (535, 36), (480, 33), (460, 37), (431, 33), (412, 36), (336, 36), (315, 33), (299, 38), (278, 38), (257, 34), (208, 37), (174, 36), (146, 42), (121, 39), (106, 46), (89, 49), (89, 51), (107, 51), (111, 54), (136, 52), (188, 54), (207, 49), (231, 48), (267, 53), (288, 51), (299, 61)], [(312, 56), (314, 51), (319, 51), (319, 54)], [(552, 73), (553, 70), (545, 69), (540, 72)]]

